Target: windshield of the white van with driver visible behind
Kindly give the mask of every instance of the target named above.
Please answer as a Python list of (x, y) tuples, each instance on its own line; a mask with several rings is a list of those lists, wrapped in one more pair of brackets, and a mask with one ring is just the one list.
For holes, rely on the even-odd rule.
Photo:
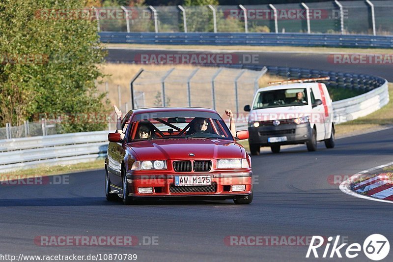
[(261, 91), (257, 94), (253, 109), (308, 105), (306, 88)]

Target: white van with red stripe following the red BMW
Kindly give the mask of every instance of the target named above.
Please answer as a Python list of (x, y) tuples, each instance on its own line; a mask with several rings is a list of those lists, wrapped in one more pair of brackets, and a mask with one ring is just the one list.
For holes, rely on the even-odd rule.
[(273, 153), (281, 145), (306, 144), (315, 151), (317, 141), (327, 148), (335, 146), (333, 106), (323, 83), (297, 83), (259, 88), (250, 112), (249, 144), (252, 155), (260, 146), (270, 146)]

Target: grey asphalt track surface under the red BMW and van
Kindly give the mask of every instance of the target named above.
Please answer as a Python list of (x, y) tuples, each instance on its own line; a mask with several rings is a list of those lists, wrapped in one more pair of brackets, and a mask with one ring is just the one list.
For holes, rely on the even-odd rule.
[[(343, 236), (363, 244), (373, 233), (392, 242), (393, 205), (355, 198), (332, 184), (389, 163), (393, 128), (338, 139), (316, 152), (306, 146), (253, 156), (254, 199), (159, 202), (124, 206), (105, 200), (103, 170), (62, 175), (63, 185), (0, 186), (0, 254), (137, 254), (137, 261), (316, 261), (308, 246), (229, 246), (226, 236)], [(158, 236), (158, 245), (40, 246), (37, 236)], [(301, 242), (300, 242), (301, 244)], [(323, 250), (319, 251), (322, 256)], [(341, 252), (343, 254), (344, 252)], [(384, 261), (392, 261), (392, 252)], [(318, 261), (368, 261), (356, 259)]]

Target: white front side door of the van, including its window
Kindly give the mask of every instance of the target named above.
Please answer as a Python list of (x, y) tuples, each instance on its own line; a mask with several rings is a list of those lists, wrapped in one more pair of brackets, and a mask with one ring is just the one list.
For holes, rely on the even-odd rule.
[[(317, 83), (319, 84), (319, 83)], [(312, 108), (311, 106), (311, 121), (314, 122), (316, 126), (316, 140), (324, 140), (325, 139), (325, 121), (326, 121), (326, 116), (325, 116), (325, 107), (326, 105), (326, 100), (322, 99), (321, 91), (318, 86), (313, 85), (310, 88), (310, 99), (311, 99), (311, 105), (315, 102), (316, 99), (322, 100), (322, 105), (316, 106)], [(325, 101), (325, 102), (324, 102)], [(327, 107), (326, 107), (327, 108)]]

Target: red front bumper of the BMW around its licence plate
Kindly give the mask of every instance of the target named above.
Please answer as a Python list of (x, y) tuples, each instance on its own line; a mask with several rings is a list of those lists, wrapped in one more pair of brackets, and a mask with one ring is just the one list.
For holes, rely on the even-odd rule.
[[(211, 186), (174, 186), (176, 175), (212, 175)], [(129, 196), (167, 199), (237, 199), (252, 193), (252, 172), (136, 175), (127, 174)], [(232, 191), (232, 185), (246, 185), (244, 191)], [(139, 193), (139, 187), (152, 187), (153, 193)]]

